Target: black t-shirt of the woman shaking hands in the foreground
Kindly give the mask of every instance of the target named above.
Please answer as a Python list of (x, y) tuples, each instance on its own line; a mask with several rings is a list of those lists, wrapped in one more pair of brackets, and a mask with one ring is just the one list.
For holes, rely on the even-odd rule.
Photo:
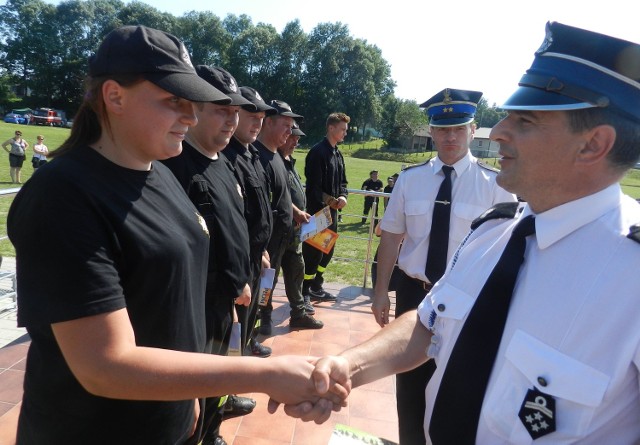
[(19, 444), (178, 444), (193, 401), (113, 400), (85, 391), (51, 324), (127, 309), (139, 346), (203, 352), (204, 221), (163, 165), (117, 166), (78, 148), (38, 169), (7, 220), (18, 324), (31, 336)]

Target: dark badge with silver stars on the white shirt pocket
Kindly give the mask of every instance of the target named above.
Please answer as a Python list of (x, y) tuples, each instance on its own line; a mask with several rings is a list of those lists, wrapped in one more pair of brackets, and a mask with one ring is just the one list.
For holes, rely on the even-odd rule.
[(530, 389), (518, 417), (533, 440), (553, 433), (556, 430), (556, 400), (537, 388)]

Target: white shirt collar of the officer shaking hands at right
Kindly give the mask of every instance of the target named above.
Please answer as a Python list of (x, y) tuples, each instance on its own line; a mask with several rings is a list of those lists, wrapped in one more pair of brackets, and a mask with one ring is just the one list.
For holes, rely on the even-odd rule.
[[(622, 190), (618, 183), (584, 198), (570, 201), (536, 215), (536, 242), (546, 249), (565, 236), (618, 207)], [(521, 218), (534, 214), (526, 205)]]

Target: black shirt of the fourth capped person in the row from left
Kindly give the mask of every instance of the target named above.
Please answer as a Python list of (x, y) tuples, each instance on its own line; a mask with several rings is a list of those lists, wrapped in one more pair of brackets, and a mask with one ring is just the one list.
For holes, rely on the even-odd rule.
[(260, 141), (256, 141), (260, 162), (264, 167), (271, 191), (271, 210), (273, 211), (273, 233), (269, 241), (269, 254), (277, 251), (281, 243), (289, 236), (293, 226), (293, 206), (289, 191), (287, 169), (278, 153), (273, 153)]

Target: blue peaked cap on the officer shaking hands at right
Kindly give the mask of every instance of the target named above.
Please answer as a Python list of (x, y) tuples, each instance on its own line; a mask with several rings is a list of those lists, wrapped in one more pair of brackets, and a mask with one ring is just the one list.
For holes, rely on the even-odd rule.
[(542, 46), (505, 110), (608, 107), (640, 122), (640, 45), (548, 22)]

